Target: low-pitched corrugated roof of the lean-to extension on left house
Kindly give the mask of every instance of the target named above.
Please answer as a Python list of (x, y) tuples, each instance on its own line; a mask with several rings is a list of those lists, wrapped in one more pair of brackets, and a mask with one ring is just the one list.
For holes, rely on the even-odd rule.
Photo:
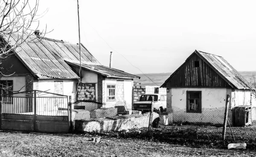
[[(72, 65), (72, 66), (80, 66), (80, 64), (76, 63), (76, 62), (67, 61), (67, 63)], [(107, 66), (81, 64), (81, 67), (83, 69), (93, 71), (97, 74), (101, 74), (101, 75), (106, 76), (106, 77), (140, 79), (140, 77), (135, 76), (133, 74), (128, 74), (125, 71), (109, 68)]]

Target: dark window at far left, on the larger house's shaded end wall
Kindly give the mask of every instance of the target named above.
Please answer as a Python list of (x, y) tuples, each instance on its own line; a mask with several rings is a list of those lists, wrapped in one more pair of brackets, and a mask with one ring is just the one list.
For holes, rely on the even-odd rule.
[(12, 80), (0, 80), (0, 88), (1, 88), (1, 100), (3, 97), (4, 102), (12, 102), (12, 98), (7, 99), (6, 97), (12, 96), (13, 81)]

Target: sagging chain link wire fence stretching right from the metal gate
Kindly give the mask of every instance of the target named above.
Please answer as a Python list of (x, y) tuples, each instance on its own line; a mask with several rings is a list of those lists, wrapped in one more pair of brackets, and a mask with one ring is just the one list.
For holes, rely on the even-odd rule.
[[(154, 103), (154, 102), (152, 102)], [(77, 102), (71, 105), (74, 132), (112, 134), (191, 146), (227, 146), (228, 143), (256, 143), (256, 108), (202, 108), (201, 113), (187, 113), (172, 108), (171, 112), (131, 111), (125, 103), (102, 108), (102, 103)], [(226, 112), (225, 112), (226, 111)], [(227, 122), (224, 135), (225, 114)]]

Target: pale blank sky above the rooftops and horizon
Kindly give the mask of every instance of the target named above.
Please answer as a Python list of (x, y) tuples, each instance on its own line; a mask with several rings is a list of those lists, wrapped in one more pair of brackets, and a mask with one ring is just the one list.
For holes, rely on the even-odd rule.
[[(79, 6), (81, 43), (105, 66), (113, 51), (113, 68), (173, 72), (197, 49), (238, 71), (256, 71), (253, 0), (79, 0)], [(38, 13), (47, 9), (40, 29), (54, 30), (46, 37), (79, 43), (77, 1), (41, 0)]]

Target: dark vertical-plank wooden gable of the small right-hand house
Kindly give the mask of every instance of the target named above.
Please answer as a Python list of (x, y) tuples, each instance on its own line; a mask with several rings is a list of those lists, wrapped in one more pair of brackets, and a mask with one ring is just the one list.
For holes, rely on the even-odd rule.
[[(195, 67), (195, 61), (199, 61), (199, 67)], [(175, 71), (167, 87), (230, 87), (230, 85), (204, 60), (194, 54)]]

